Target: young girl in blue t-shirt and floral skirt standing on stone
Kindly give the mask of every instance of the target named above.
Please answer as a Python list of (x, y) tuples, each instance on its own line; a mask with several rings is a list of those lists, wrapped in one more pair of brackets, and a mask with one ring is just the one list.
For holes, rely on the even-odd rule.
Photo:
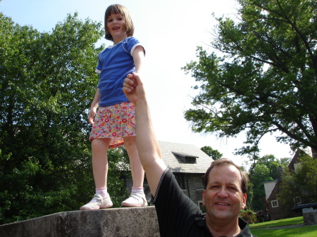
[[(123, 93), (123, 80), (132, 72), (141, 72), (144, 48), (133, 36), (134, 25), (127, 8), (119, 4), (108, 6), (105, 13), (106, 39), (113, 41), (99, 53), (96, 72), (97, 92), (89, 111), (92, 124), (92, 169), (96, 193), (80, 210), (112, 207), (107, 192), (108, 148), (125, 145), (130, 159), (133, 187), (122, 207), (144, 207), (144, 169), (139, 160), (135, 140), (135, 108)], [(98, 108), (98, 111), (97, 111)]]

